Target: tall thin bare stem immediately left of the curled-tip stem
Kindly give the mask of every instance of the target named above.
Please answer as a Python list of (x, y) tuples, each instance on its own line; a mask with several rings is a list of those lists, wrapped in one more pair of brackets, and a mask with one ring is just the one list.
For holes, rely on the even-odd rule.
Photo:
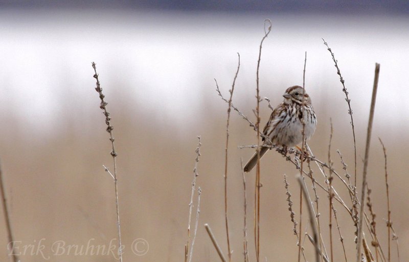
[(224, 159), (224, 215), (225, 215), (225, 223), (226, 223), (226, 237), (227, 237), (227, 248), (228, 248), (229, 261), (231, 261), (231, 259), (232, 259), (232, 251), (230, 249), (229, 219), (228, 219), (228, 214), (227, 214), (227, 210), (228, 210), (228, 208), (227, 208), (227, 173), (228, 173), (227, 172), (227, 167), (228, 167), (228, 153), (229, 153), (230, 112), (232, 111), (232, 98), (233, 98), (234, 86), (236, 84), (237, 75), (238, 75), (239, 69), (240, 69), (240, 54), (237, 53), (237, 56), (239, 57), (239, 62), (238, 62), (238, 65), (237, 65), (237, 71), (236, 71), (236, 74), (234, 76), (232, 89), (229, 90), (230, 99), (229, 99), (229, 107), (227, 109), (226, 147), (225, 147), (225, 159)]

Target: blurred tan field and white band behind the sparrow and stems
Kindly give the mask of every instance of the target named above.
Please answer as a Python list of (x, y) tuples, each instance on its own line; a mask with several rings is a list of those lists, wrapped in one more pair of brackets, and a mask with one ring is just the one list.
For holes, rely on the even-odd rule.
[[(93, 61), (108, 101), (119, 153), (124, 261), (183, 260), (198, 135), (202, 155), (197, 186), (202, 195), (193, 260), (219, 259), (204, 223), (211, 225), (226, 254), (223, 174), (227, 104), (217, 96), (213, 78), (227, 96), (239, 52), (241, 68), (233, 102), (255, 119), (256, 65), (265, 18), (272, 20), (273, 28), (262, 49), (261, 96), (269, 97), (275, 106), (287, 87), (302, 85), (307, 51), (306, 89), (319, 119), (308, 143), (317, 158), (327, 161), (331, 117), (334, 165), (342, 170), (335, 152), (339, 149), (353, 173), (347, 104), (321, 38), (334, 51), (354, 111), (358, 177), (365, 153), (374, 67), (375, 62), (380, 63), (369, 186), (385, 251), (387, 230), (382, 219), (387, 218), (387, 207), (380, 137), (388, 152), (392, 221), (399, 235), (400, 261), (407, 261), (406, 15), (14, 7), (0, 10), (0, 159), (15, 240), (21, 245), (36, 245), (43, 239), (46, 247), (42, 252), (46, 257), (37, 252), (21, 256), (21, 260), (113, 260), (110, 254), (53, 256), (52, 250), (56, 241), (108, 245), (117, 238), (113, 181), (102, 167), (112, 166), (110, 144), (94, 89)], [(262, 125), (269, 114), (263, 102)], [(252, 128), (236, 112), (231, 120), (229, 218), (233, 260), (238, 261), (242, 259), (243, 227), (240, 158), (246, 161), (254, 149), (237, 146), (257, 141)], [(296, 173), (276, 152), (269, 152), (262, 161), (261, 257), (268, 261), (297, 259), (283, 183), (283, 174), (287, 174), (293, 201), (298, 202)], [(246, 177), (249, 248), (254, 257), (255, 174)], [(346, 190), (339, 188), (347, 196)], [(326, 194), (321, 194), (325, 199)], [(352, 221), (340, 206), (336, 208), (348, 253), (355, 259)], [(323, 206), (321, 211), (326, 225), (328, 208)], [(323, 234), (328, 240), (327, 226)], [(0, 239), (0, 260), (5, 261), (3, 216), (0, 235), (4, 236)], [(336, 254), (341, 255), (335, 230), (334, 236)], [(132, 242), (139, 238), (149, 243), (143, 256), (131, 252)], [(307, 242), (306, 247), (312, 250)], [(392, 251), (397, 261), (395, 242)], [(311, 259), (312, 253), (307, 254)], [(342, 256), (336, 260), (341, 261)]]

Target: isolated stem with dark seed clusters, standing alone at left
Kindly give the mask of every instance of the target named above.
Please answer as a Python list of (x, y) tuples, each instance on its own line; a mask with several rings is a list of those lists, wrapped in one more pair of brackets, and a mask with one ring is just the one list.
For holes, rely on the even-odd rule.
[[(96, 83), (96, 88), (95, 90), (98, 92), (99, 94), (99, 98), (101, 99), (101, 103), (100, 103), (100, 109), (102, 109), (104, 112), (104, 116), (105, 116), (105, 123), (108, 126), (106, 128), (106, 132), (109, 133), (109, 141), (111, 141), (111, 145), (112, 145), (112, 151), (110, 152), (111, 156), (112, 156), (112, 160), (113, 160), (113, 181), (115, 184), (115, 204), (116, 204), (116, 211), (117, 211), (117, 227), (118, 227), (118, 242), (119, 242), (119, 260), (122, 262), (122, 239), (121, 239), (121, 221), (120, 221), (120, 216), (119, 216), (119, 199), (118, 199), (118, 179), (117, 179), (117, 152), (115, 151), (115, 138), (113, 137), (113, 126), (110, 123), (110, 116), (109, 116), (109, 112), (106, 110), (106, 105), (108, 104), (107, 102), (105, 102), (104, 97), (105, 95), (103, 95), (102, 93), (102, 88), (101, 88), (101, 84), (99, 82), (98, 79), (98, 73), (97, 73), (97, 66), (95, 64), (95, 62), (92, 63), (92, 66), (94, 68), (94, 78), (97, 80)], [(107, 169), (107, 168), (105, 168)], [(112, 174), (111, 174), (112, 175)]]

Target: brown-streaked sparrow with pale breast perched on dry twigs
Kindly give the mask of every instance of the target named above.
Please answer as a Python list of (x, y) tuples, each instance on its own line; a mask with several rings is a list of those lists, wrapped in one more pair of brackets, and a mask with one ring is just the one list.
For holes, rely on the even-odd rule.
[[(263, 145), (278, 145), (293, 147), (301, 143), (303, 140), (303, 124), (301, 119), (304, 112), (304, 138), (308, 139), (312, 136), (316, 126), (316, 116), (312, 108), (311, 98), (304, 92), (303, 103), (303, 88), (300, 86), (292, 86), (287, 88), (284, 93), (284, 101), (275, 108), (263, 129)], [(268, 141), (265, 139), (268, 138)], [(267, 152), (269, 147), (261, 147), (260, 158)], [(249, 172), (257, 164), (257, 152), (244, 166), (244, 172)]]

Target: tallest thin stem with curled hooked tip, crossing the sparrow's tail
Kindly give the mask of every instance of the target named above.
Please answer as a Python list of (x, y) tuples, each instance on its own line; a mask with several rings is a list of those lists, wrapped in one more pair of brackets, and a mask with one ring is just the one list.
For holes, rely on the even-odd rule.
[[(261, 61), (261, 48), (263, 46), (264, 39), (267, 38), (268, 34), (271, 32), (271, 20), (266, 19), (264, 20), (264, 30), (266, 23), (268, 23), (267, 31), (264, 32), (264, 37), (261, 39), (260, 48), (259, 48), (259, 59), (257, 61), (257, 71), (256, 71), (256, 98), (257, 98), (257, 106), (256, 106), (256, 129), (257, 129), (257, 145), (260, 146), (260, 85), (259, 85), (259, 71), (260, 71), (260, 61)], [(256, 171), (256, 190), (255, 190), (255, 210), (254, 210), (254, 238), (255, 238), (255, 245), (256, 245), (256, 257), (257, 261), (260, 259), (260, 147), (257, 147), (257, 171)]]

